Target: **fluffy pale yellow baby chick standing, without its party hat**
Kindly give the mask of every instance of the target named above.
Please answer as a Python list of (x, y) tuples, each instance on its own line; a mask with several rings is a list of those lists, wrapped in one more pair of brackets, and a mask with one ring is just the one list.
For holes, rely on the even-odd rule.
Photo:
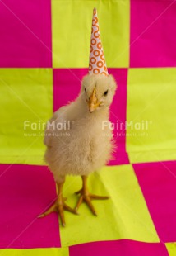
[[(58, 198), (39, 217), (57, 211), (65, 226), (64, 210), (76, 214), (85, 201), (96, 215), (91, 199), (109, 198), (91, 194), (87, 178), (109, 161), (114, 149), (109, 106), (116, 88), (112, 75), (88, 74), (82, 80), (81, 92), (76, 100), (53, 114), (45, 130), (44, 145), (47, 149), (44, 157), (58, 185)], [(62, 136), (66, 132), (67, 135)], [(63, 198), (63, 184), (68, 174), (81, 175), (82, 178), (82, 188), (76, 192), (80, 197), (75, 209), (67, 206)]]

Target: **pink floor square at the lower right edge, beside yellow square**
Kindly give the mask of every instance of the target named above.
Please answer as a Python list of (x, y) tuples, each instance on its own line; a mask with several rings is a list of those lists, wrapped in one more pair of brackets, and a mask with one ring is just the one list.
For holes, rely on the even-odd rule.
[(133, 164), (155, 229), (163, 242), (176, 241), (176, 161)]

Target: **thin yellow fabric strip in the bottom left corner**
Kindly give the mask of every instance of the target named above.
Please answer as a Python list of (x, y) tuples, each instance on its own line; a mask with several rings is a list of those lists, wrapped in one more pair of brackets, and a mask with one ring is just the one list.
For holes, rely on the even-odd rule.
[(1, 249), (1, 256), (69, 256), (68, 248)]

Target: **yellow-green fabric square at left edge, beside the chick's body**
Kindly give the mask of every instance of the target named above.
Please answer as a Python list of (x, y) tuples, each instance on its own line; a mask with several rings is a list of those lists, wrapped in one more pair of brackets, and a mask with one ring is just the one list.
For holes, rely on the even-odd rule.
[(0, 69), (0, 101), (0, 162), (44, 164), (44, 130), (32, 123), (52, 116), (52, 69)]

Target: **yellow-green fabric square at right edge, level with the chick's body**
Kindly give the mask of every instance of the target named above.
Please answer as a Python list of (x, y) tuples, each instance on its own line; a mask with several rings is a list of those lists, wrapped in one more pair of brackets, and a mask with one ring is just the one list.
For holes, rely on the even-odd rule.
[(176, 69), (129, 69), (127, 122), (148, 122), (142, 130), (127, 126), (131, 163), (176, 158)]

